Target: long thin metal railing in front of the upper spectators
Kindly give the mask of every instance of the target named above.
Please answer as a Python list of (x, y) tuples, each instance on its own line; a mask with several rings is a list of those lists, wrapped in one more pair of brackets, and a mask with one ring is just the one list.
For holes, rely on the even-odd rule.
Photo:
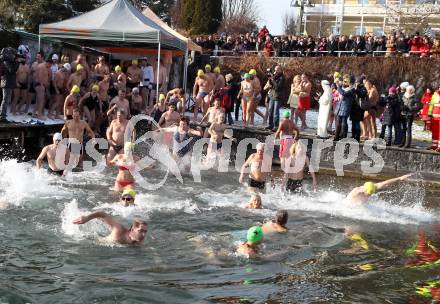
[[(362, 56), (419, 56), (426, 57), (428, 56), (420, 56), (422, 54), (430, 54), (430, 51), (237, 51), (237, 50), (215, 50), (213, 51), (213, 55), (211, 57), (242, 57), (242, 56), (267, 56), (270, 57), (324, 57), (324, 56), (334, 56), (334, 57), (362, 57)], [(281, 55), (281, 56), (280, 56)]]

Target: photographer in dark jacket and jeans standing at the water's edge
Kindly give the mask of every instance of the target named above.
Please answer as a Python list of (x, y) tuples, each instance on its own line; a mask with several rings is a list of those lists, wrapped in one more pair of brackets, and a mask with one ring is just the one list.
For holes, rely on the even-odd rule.
[(264, 87), (265, 90), (269, 90), (269, 126), (266, 129), (272, 131), (276, 131), (280, 123), (280, 98), (285, 83), (281, 67), (277, 65), (274, 71), (274, 74), (268, 71), (268, 80)]

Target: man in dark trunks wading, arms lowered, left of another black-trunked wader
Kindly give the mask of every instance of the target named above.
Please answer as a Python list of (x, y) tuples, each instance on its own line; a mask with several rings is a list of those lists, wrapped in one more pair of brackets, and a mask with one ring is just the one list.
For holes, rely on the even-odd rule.
[[(251, 154), (241, 167), (240, 183), (244, 182), (245, 170), (250, 167), (248, 187), (251, 192), (264, 192), (266, 189), (267, 173), (262, 172), (265, 147), (266, 145), (263, 143), (257, 144), (257, 152)], [(272, 157), (267, 157), (266, 161), (270, 161), (268, 165), (271, 166)]]

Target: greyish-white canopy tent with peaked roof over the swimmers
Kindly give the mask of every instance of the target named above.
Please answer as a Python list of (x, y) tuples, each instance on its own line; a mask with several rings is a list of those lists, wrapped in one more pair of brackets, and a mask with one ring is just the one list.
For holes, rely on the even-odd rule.
[[(60, 22), (41, 24), (39, 34), (40, 38), (57, 38), (92, 48), (157, 47), (156, 96), (159, 96), (161, 49), (182, 50), (188, 53), (188, 39), (182, 39), (148, 18), (127, 0), (111, 0), (82, 15)], [(186, 69), (187, 60), (185, 60)], [(186, 86), (186, 79), (184, 86)]]

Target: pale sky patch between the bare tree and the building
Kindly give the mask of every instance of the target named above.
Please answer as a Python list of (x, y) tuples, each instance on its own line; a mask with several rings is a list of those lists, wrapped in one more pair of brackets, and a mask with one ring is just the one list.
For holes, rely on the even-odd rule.
[(293, 14), (290, 0), (254, 0), (258, 5), (260, 24), (266, 25), (275, 35), (283, 34), (283, 15), (285, 12)]

